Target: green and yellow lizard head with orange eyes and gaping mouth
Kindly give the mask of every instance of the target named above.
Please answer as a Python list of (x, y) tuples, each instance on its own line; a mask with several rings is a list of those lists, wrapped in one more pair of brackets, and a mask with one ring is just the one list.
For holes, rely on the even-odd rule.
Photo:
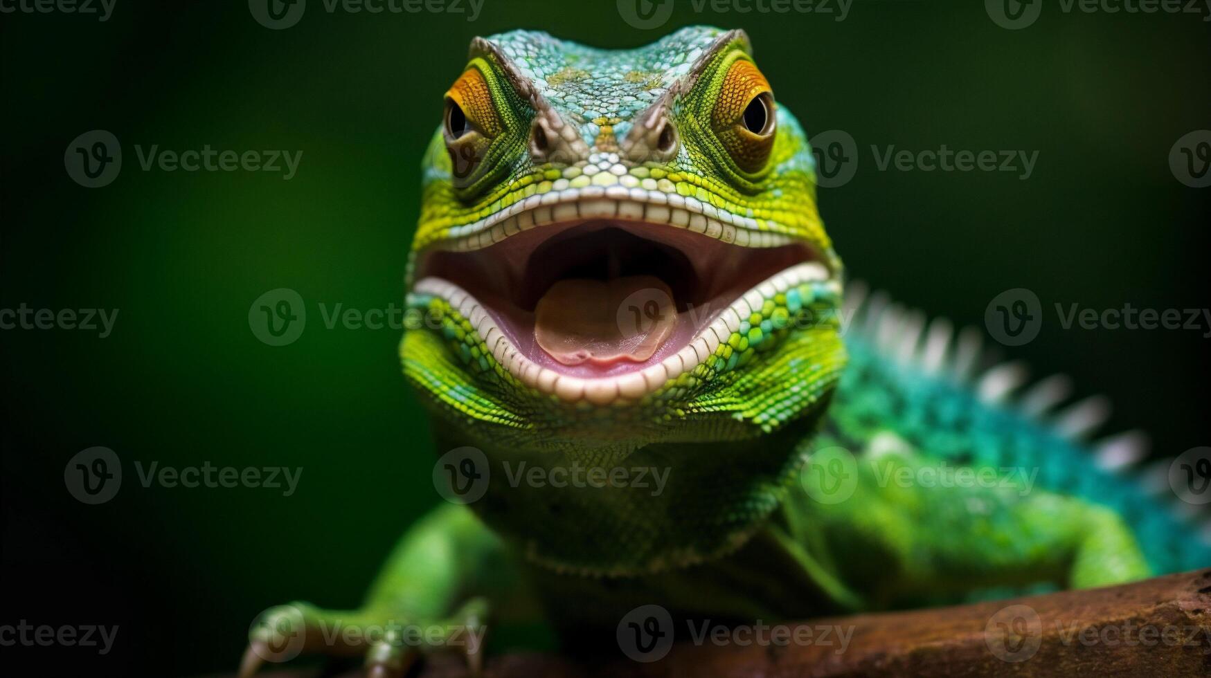
[(844, 363), (814, 157), (740, 30), (476, 39), (407, 282), (406, 375), (492, 441), (750, 438)]

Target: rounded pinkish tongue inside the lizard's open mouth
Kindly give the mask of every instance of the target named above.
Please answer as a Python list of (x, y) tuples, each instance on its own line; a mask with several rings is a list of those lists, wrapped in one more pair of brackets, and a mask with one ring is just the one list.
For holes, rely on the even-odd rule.
[(534, 316), (534, 339), (563, 364), (643, 362), (677, 326), (672, 291), (655, 276), (561, 280)]

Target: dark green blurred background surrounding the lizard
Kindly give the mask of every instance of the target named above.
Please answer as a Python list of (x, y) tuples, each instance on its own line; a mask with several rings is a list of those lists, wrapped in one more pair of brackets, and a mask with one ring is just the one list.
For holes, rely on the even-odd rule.
[[(467, 42), (512, 28), (609, 47), (677, 25), (741, 27), (809, 133), (844, 130), (855, 178), (821, 190), (850, 271), (902, 301), (981, 323), (1008, 288), (1048, 320), (1010, 351), (1117, 404), (1158, 455), (1209, 444), (1203, 331), (1063, 331), (1055, 303), (1207, 308), (1209, 190), (1169, 153), (1211, 127), (1211, 23), (1062, 13), (1006, 30), (982, 2), (859, 0), (819, 13), (695, 12), (656, 30), (614, 0), (484, 0), (482, 15), (328, 13), (285, 30), (247, 2), (117, 0), (107, 22), (0, 15), (5, 100), (0, 308), (119, 309), (113, 335), (2, 331), (0, 625), (119, 625), (114, 650), (8, 656), (52, 674), (179, 676), (235, 666), (249, 622), (295, 598), (351, 607), (404, 525), (438, 501), (426, 423), (396, 329), (327, 329), (318, 305), (402, 301), (419, 162)], [(465, 5), (465, 1), (464, 1)], [(830, 2), (830, 5), (834, 5)], [(64, 150), (108, 130), (117, 179), (73, 183)], [(134, 145), (302, 150), (298, 174), (139, 168)], [(1003, 172), (877, 171), (869, 146), (1038, 150)], [(268, 346), (249, 305), (287, 287), (308, 327)], [(92, 446), (124, 464), (99, 506), (65, 490)], [(264, 488), (144, 488), (133, 462), (298, 466)]]

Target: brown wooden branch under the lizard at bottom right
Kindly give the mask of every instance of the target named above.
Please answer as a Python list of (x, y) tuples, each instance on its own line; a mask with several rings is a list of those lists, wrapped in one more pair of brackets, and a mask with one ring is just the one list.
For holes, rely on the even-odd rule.
[[(1211, 569), (1107, 588), (790, 626), (833, 626), (853, 630), (853, 636), (844, 651), (838, 651), (837, 642), (828, 647), (679, 642), (650, 663), (498, 656), (488, 660), (484, 677), (1211, 676)], [(678, 640), (688, 636), (677, 632)], [(435, 656), (419, 674), (461, 678), (466, 670), (461, 657)]]

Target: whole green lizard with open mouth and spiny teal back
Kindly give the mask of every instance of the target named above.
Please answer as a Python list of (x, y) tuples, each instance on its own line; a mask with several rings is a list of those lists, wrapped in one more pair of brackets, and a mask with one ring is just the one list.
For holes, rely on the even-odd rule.
[(608, 644), (648, 604), (794, 620), (1211, 563), (1120, 472), (1135, 437), (1081, 442), (1095, 403), (1050, 415), (1054, 379), (1011, 402), (1018, 370), (977, 374), (974, 334), (843, 303), (815, 159), (742, 31), (476, 39), (407, 280), (403, 372), (452, 502), (361, 609), (271, 609), (243, 676), (299, 651), (477, 665), (489, 619)]

